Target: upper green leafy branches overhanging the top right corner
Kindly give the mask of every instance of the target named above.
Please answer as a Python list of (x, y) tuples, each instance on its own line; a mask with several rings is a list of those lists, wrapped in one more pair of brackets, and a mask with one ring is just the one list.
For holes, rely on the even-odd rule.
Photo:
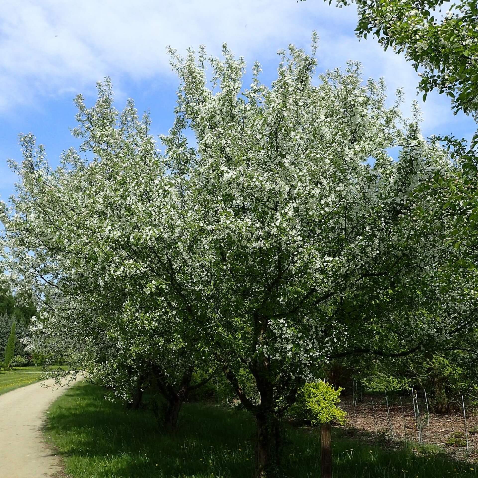
[[(419, 89), (426, 98), (436, 89), (452, 100), (455, 113), (476, 119), (478, 110), (478, 6), (474, 0), (337, 0), (357, 3), (356, 33), (373, 34), (385, 50), (403, 52), (421, 70)], [(442, 9), (446, 12), (442, 13)], [(475, 138), (477, 141), (478, 138)]]

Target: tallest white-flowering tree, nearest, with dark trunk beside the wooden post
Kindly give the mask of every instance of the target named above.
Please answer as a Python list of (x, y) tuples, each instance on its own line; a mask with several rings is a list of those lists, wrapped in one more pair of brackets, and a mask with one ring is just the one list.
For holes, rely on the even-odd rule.
[[(254, 65), (239, 96), (244, 64), (227, 50), (224, 62), (211, 62), (211, 88), (203, 51), (197, 63), (192, 52), (172, 54), (182, 87), (166, 154), (196, 196), (191, 224), (205, 248), (204, 265), (191, 261), (181, 283), (211, 291), (196, 314), (256, 416), (257, 475), (265, 476), (273, 474), (277, 418), (321, 361), (402, 355), (434, 335), (417, 291), (448, 252), (443, 231), (420, 214), (436, 205), (419, 186), (451, 165), (416, 121), (398, 126), (398, 104), (385, 108), (381, 83), (361, 86), (357, 65), (315, 87), (314, 58), (291, 47), (271, 89)], [(194, 154), (185, 154), (186, 125)], [(386, 150), (396, 145), (403, 149), (393, 162)], [(243, 392), (243, 366), (260, 403)]]

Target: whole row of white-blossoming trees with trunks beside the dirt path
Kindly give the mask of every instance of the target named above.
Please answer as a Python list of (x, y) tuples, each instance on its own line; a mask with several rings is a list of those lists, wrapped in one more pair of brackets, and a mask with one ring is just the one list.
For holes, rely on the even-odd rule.
[(21, 136), (1, 210), (3, 267), (37, 301), (29, 346), (126, 401), (154, 380), (171, 428), (193, 373), (224, 374), (257, 421), (256, 477), (278, 475), (281, 417), (324, 363), (459, 347), (474, 324), (446, 186), (460, 164), (358, 64), (315, 81), (315, 47), (280, 52), (271, 87), (255, 64), (248, 89), (226, 48), (170, 50), (164, 152), (148, 115), (98, 84), (59, 167)]

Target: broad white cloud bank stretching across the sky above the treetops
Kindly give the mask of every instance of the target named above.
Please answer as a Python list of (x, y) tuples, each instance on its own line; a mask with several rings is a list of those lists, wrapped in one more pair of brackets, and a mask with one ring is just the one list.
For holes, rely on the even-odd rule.
[[(185, 51), (203, 43), (218, 54), (227, 42), (251, 62), (257, 56), (272, 58), (288, 43), (308, 44), (314, 28), (321, 37), (322, 67), (362, 61), (367, 76), (385, 76), (392, 89), (404, 87), (410, 102), (416, 73), (401, 56), (383, 52), (375, 40), (358, 42), (355, 24), (353, 7), (339, 10), (321, 0), (4, 0), (0, 110), (65, 93), (71, 98), (77, 91), (91, 91), (106, 75), (117, 90), (128, 79), (173, 78), (168, 44)], [(448, 112), (445, 98), (429, 96), (426, 129), (452, 120)]]

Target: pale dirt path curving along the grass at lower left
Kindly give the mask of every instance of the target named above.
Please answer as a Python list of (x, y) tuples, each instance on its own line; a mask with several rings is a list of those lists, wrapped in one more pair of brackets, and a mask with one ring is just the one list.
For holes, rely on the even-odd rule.
[(41, 383), (0, 395), (2, 478), (46, 478), (60, 471), (56, 456), (43, 443), (41, 429), (48, 406), (65, 388), (46, 388)]

